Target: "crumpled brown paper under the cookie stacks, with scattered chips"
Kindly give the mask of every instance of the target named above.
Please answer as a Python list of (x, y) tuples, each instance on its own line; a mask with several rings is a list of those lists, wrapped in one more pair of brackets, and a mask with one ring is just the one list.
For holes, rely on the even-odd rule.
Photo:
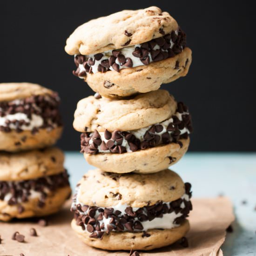
[[(193, 199), (193, 211), (189, 221), (191, 229), (187, 234), (189, 248), (179, 244), (140, 252), (141, 256), (222, 256), (220, 246), (225, 240), (226, 228), (234, 221), (232, 204), (226, 197)], [(47, 217), (49, 225), (40, 227), (33, 220), (0, 222), (0, 256), (128, 256), (127, 251), (104, 251), (82, 243), (70, 227), (72, 215), (70, 202), (59, 214)], [(38, 236), (30, 236), (29, 229), (35, 228)], [(12, 240), (15, 231), (25, 236), (25, 243)]]

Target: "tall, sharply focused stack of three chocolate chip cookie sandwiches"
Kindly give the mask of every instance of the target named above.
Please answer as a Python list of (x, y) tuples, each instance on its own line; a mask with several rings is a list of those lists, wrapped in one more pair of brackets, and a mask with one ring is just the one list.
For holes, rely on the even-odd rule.
[(167, 168), (189, 147), (189, 108), (159, 89), (185, 76), (186, 34), (158, 7), (91, 20), (67, 39), (76, 70), (96, 92), (74, 114), (81, 152), (97, 167), (77, 184), (72, 228), (84, 243), (150, 250), (189, 230), (191, 185)]

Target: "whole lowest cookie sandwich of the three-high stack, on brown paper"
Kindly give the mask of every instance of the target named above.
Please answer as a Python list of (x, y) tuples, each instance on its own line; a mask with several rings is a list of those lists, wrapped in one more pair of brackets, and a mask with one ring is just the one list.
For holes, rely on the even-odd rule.
[(170, 170), (151, 175), (91, 170), (76, 188), (72, 228), (84, 243), (101, 249), (167, 246), (189, 230), (190, 189)]

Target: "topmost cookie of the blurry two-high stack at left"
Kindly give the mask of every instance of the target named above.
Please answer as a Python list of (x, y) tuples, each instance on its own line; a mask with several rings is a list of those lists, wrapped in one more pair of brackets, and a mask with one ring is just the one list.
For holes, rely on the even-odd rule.
[(0, 83), (0, 101), (13, 101), (46, 94), (54, 94), (54, 92), (33, 83)]

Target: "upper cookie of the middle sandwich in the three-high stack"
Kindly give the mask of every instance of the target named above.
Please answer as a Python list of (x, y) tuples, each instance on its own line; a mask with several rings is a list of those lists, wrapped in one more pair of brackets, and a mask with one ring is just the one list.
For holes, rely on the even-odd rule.
[(176, 108), (174, 97), (165, 90), (123, 100), (89, 96), (78, 102), (73, 125), (79, 132), (135, 130), (170, 118)]

